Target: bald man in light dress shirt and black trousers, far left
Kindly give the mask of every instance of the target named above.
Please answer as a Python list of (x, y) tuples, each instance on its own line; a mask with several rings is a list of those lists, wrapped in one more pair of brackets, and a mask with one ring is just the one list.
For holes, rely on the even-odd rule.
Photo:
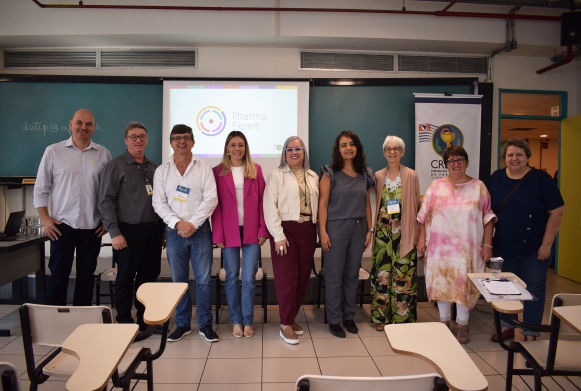
[[(34, 206), (51, 239), (47, 304), (67, 304), (69, 275), (76, 250), (73, 305), (87, 306), (93, 301), (93, 275), (101, 237), (107, 233), (97, 208), (99, 173), (111, 160), (111, 153), (91, 141), (96, 124), (89, 110), (78, 110), (69, 127), (69, 139), (49, 145), (44, 151), (34, 185)], [(49, 193), (52, 193), (50, 215)]]

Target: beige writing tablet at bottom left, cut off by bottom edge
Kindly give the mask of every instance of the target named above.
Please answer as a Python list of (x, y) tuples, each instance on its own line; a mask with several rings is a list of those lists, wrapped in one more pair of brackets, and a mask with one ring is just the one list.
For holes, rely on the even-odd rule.
[(79, 359), (67, 381), (69, 391), (102, 390), (139, 332), (136, 324), (83, 324), (63, 342), (64, 353)]

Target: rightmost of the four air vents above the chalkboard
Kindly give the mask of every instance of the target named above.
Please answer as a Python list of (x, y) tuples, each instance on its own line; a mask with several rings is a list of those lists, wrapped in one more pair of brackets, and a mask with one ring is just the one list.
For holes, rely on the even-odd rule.
[(488, 57), (398, 55), (398, 72), (487, 74)]

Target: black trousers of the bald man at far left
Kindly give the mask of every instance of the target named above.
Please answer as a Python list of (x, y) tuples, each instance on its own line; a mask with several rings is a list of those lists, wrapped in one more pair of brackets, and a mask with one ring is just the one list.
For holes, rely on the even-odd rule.
[(46, 303), (66, 305), (69, 276), (77, 251), (77, 278), (73, 305), (86, 306), (93, 303), (93, 286), (97, 257), (101, 251), (101, 238), (94, 229), (75, 229), (62, 223), (57, 225), (61, 236), (50, 242), (50, 279), (48, 280)]

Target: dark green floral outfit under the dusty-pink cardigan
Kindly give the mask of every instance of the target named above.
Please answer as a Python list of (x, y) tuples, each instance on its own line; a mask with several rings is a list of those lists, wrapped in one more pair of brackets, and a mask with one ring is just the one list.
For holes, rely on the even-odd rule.
[[(387, 201), (397, 199), (400, 213), (387, 213)], [(375, 323), (413, 323), (417, 319), (416, 255), (414, 247), (400, 255), (401, 178), (385, 178), (375, 227), (371, 260), (371, 320)]]

